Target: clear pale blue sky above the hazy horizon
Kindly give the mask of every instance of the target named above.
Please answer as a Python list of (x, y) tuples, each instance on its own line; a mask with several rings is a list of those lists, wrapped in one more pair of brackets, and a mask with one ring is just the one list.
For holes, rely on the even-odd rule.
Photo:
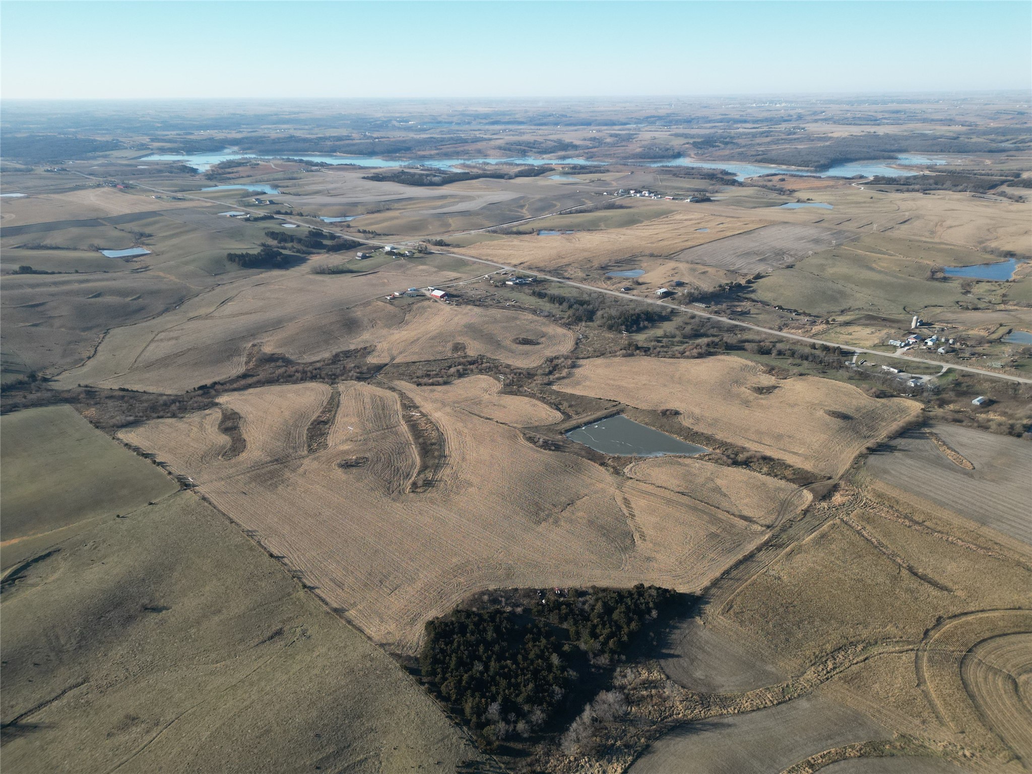
[(1032, 89), (1032, 2), (0, 2), (4, 99)]

